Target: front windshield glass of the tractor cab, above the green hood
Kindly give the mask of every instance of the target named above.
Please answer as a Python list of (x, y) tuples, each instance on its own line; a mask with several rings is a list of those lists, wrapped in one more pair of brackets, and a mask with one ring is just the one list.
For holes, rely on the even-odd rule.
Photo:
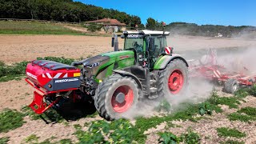
[(125, 49), (134, 48), (137, 51), (143, 51), (143, 38), (126, 38)]

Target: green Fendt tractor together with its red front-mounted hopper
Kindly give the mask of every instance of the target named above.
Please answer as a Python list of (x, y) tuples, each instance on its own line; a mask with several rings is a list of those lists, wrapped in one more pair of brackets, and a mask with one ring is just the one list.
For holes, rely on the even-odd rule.
[[(188, 82), (188, 64), (167, 46), (170, 32), (124, 31), (123, 50), (118, 35), (112, 38), (114, 51), (99, 54), (70, 66), (48, 60), (34, 60), (26, 67), (26, 82), (34, 86), (30, 108), (42, 114), (59, 107), (62, 99), (94, 102), (102, 118), (123, 118), (145, 98), (171, 98), (182, 94)], [(82, 68), (78, 68), (82, 66)], [(41, 94), (42, 93), (42, 94)]]

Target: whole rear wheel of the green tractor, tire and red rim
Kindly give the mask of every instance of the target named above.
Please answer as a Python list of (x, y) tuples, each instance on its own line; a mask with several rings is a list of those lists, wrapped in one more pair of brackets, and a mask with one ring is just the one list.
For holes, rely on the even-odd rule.
[(184, 94), (188, 86), (188, 69), (180, 59), (171, 61), (165, 70), (160, 72), (158, 96), (174, 98), (174, 95)]

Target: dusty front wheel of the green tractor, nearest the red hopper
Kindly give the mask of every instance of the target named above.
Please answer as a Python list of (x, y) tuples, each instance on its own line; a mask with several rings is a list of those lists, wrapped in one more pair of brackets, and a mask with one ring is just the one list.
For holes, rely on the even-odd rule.
[[(131, 90), (133, 100), (132, 102), (130, 100), (124, 100), (122, 103), (118, 104), (117, 101), (114, 101), (112, 97), (117, 97), (118, 90), (124, 90), (126, 88), (128, 92), (126, 91), (123, 93), (127, 95), (125, 98), (131, 98), (129, 95), (131, 94)], [(126, 114), (128, 114), (130, 110), (136, 110), (139, 94), (142, 94), (142, 91), (138, 88), (138, 84), (133, 78), (121, 76), (120, 74), (113, 74), (98, 85), (94, 95), (94, 105), (98, 110), (99, 115), (108, 121), (118, 118), (125, 118)], [(124, 111), (114, 110), (113, 101), (118, 105), (124, 104), (123, 106), (126, 106), (126, 104), (128, 104), (128, 109)]]

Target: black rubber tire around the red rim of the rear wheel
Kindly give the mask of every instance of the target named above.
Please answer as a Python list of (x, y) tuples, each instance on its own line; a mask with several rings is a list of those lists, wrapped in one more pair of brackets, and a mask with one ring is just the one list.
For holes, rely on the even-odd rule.
[[(178, 70), (182, 74), (183, 82), (181, 88), (179, 88), (178, 93), (175, 94), (173, 90), (169, 87), (169, 79), (171, 74)], [(159, 83), (158, 83), (158, 97), (172, 99), (175, 95), (182, 96), (185, 94), (188, 87), (188, 67), (186, 63), (181, 59), (174, 59), (167, 66), (166, 69), (160, 71)], [(177, 91), (176, 91), (177, 92)]]

